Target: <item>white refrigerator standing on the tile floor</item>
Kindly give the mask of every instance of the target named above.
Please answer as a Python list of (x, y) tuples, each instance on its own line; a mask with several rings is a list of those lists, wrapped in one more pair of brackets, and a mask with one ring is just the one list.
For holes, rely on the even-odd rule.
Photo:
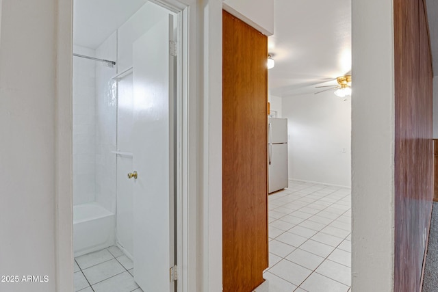
[(289, 185), (286, 118), (268, 118), (268, 176), (269, 193)]

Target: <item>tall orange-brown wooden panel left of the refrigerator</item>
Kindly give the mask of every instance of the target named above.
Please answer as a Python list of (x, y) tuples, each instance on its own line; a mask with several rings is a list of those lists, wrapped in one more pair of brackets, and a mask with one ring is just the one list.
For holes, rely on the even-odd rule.
[(223, 291), (248, 292), (268, 267), (268, 38), (222, 21)]

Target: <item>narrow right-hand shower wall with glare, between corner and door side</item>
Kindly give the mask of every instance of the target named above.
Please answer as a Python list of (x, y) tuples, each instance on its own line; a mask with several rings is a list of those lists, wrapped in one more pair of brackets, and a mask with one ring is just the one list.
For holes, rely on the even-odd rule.
[[(96, 57), (116, 61), (117, 33), (96, 48)], [(116, 213), (116, 127), (117, 92), (116, 66), (110, 68), (101, 62), (96, 65), (96, 202)]]

